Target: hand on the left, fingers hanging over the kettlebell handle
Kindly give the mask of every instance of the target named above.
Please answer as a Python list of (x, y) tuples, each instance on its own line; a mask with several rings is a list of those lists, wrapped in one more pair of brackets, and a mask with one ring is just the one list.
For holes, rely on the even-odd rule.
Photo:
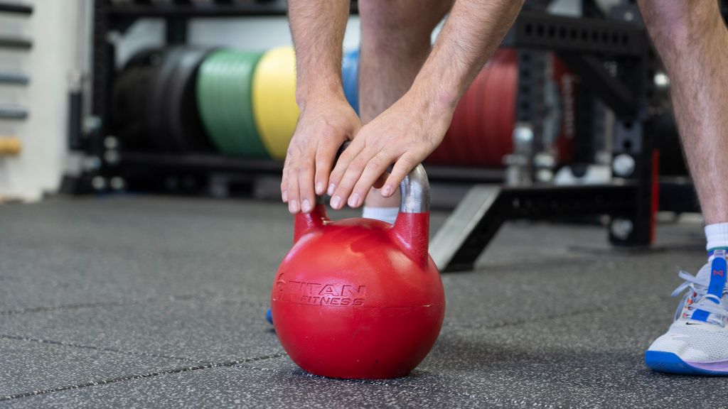
[(360, 127), (359, 117), (343, 94), (322, 95), (301, 106), (280, 185), (290, 213), (309, 213), (314, 208), (316, 195), (325, 194), (336, 152)]

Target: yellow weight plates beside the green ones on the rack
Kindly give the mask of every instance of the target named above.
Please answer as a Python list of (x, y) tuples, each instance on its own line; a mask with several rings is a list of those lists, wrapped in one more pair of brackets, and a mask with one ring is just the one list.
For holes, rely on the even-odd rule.
[(253, 74), (253, 116), (268, 154), (284, 159), (296, 130), (296, 55), (291, 47), (270, 49)]

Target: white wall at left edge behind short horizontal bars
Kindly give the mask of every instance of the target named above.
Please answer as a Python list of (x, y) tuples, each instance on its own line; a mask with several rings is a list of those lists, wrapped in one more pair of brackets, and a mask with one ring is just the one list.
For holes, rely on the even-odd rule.
[(81, 0), (23, 0), (31, 16), (0, 16), (0, 35), (33, 41), (30, 50), (0, 49), (0, 71), (23, 73), (27, 85), (0, 84), (0, 105), (28, 111), (0, 119), (0, 138), (17, 137), (22, 150), (0, 155), (0, 202), (36, 201), (60, 184), (67, 154), (68, 75), (76, 60)]

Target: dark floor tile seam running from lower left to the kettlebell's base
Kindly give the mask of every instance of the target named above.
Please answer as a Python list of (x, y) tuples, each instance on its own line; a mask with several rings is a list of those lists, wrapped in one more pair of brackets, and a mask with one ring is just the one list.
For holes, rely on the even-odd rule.
[(240, 360), (234, 360), (234, 361), (213, 362), (213, 363), (209, 363), (209, 364), (205, 364), (205, 365), (178, 367), (178, 368), (171, 368), (168, 370), (157, 370), (154, 372), (142, 373), (142, 374), (137, 374), (137, 375), (119, 376), (116, 378), (106, 378), (106, 379), (100, 379), (98, 381), (84, 382), (82, 384), (57, 386), (55, 388), (39, 389), (36, 391), (31, 391), (31, 392), (8, 394), (5, 396), (0, 396), (0, 402), (7, 401), (7, 400), (20, 399), (23, 397), (37, 396), (40, 394), (52, 394), (52, 393), (56, 393), (56, 392), (64, 392), (64, 391), (68, 391), (71, 389), (82, 389), (82, 388), (87, 388), (87, 387), (91, 387), (91, 386), (116, 384), (116, 383), (124, 382), (124, 381), (135, 381), (135, 380), (144, 379), (144, 378), (154, 378), (157, 376), (173, 375), (176, 373), (186, 373), (186, 372), (191, 372), (194, 370), (205, 370), (205, 369), (213, 369), (213, 368), (229, 368), (229, 367), (234, 367), (234, 366), (244, 364), (245, 362), (257, 362), (257, 361), (262, 361), (262, 360), (278, 358), (278, 357), (282, 357), (282, 356), (285, 356), (285, 354), (283, 354), (283, 353), (269, 354), (269, 355), (263, 355), (263, 356), (258, 356), (258, 357), (242, 358)]

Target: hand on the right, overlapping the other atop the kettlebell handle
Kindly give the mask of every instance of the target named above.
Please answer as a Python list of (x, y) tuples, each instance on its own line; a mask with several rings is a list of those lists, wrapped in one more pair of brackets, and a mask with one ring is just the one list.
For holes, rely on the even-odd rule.
[(331, 172), (331, 207), (341, 209), (347, 203), (359, 207), (390, 164), (394, 167), (381, 195), (392, 196), (403, 178), (440, 145), (450, 126), (454, 108), (435, 105), (408, 92), (364, 125)]

